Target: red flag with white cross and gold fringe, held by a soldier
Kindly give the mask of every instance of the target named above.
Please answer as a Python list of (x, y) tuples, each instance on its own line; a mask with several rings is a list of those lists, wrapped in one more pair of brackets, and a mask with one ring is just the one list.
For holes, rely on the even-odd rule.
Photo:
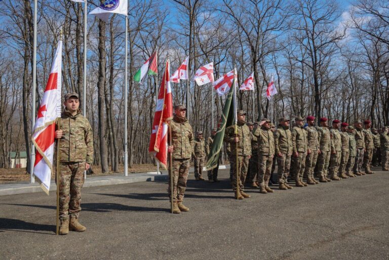
[(167, 169), (168, 163), (168, 126), (169, 121), (173, 119), (173, 97), (169, 75), (170, 64), (168, 60), (158, 93), (148, 148), (148, 152), (157, 158), (165, 169)]

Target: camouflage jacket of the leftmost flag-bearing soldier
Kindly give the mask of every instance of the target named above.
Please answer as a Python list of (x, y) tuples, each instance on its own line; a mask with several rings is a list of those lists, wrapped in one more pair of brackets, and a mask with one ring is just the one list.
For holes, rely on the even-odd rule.
[(93, 133), (88, 119), (81, 115), (80, 111), (72, 116), (65, 110), (61, 115), (59, 129), (63, 131), (59, 142), (59, 160), (92, 164)]

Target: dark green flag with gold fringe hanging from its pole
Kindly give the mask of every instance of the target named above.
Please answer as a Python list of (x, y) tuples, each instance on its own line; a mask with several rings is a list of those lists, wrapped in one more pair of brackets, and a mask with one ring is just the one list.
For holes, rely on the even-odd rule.
[(229, 126), (232, 126), (236, 122), (236, 78), (232, 81), (231, 88), (225, 98), (225, 103), (223, 107), (223, 114), (220, 117), (219, 126), (213, 140), (212, 147), (210, 148), (208, 160), (207, 160), (207, 170), (211, 170), (217, 167), (217, 161), (219, 160), (219, 154), (221, 147), (223, 146), (223, 138), (225, 129)]

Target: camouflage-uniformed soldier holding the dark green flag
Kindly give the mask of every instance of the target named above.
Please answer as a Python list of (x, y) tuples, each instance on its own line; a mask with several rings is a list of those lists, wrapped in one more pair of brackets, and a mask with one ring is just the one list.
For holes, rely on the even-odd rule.
[[(244, 192), (244, 183), (246, 179), (249, 159), (251, 157), (251, 133), (246, 125), (246, 113), (243, 110), (238, 111), (238, 133), (235, 133), (235, 125), (225, 129), (224, 141), (228, 142), (231, 147), (230, 167), (232, 167), (232, 190), (235, 192), (236, 199), (250, 198), (250, 195)], [(238, 161), (237, 161), (238, 155)], [(238, 172), (237, 172), (238, 164)], [(239, 192), (237, 182), (239, 180)]]

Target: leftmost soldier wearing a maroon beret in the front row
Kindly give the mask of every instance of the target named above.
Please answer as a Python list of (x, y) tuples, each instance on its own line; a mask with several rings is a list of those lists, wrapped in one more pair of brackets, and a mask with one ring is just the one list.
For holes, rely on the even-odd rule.
[(305, 172), (306, 183), (308, 184), (319, 184), (314, 177), (314, 171), (316, 167), (316, 162), (318, 160), (318, 155), (320, 154), (319, 149), (319, 134), (318, 130), (315, 128), (315, 117), (308, 116), (306, 117), (306, 122), (308, 126), (305, 128), (307, 133), (308, 140), (308, 151), (305, 158)]

